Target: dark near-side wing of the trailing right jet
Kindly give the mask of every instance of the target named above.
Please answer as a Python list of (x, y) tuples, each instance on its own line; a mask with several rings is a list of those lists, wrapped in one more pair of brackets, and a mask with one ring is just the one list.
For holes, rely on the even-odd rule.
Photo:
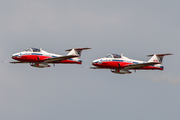
[(130, 65), (124, 66), (124, 69), (135, 69), (135, 68), (146, 67), (146, 66), (155, 65), (155, 64), (160, 64), (160, 63), (148, 62), (148, 63), (130, 64)]

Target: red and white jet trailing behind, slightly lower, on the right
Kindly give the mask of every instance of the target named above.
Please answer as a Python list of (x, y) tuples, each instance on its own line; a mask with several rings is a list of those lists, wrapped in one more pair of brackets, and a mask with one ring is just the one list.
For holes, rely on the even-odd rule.
[(130, 74), (129, 70), (163, 70), (162, 60), (165, 55), (168, 54), (153, 54), (149, 61), (139, 61), (129, 59), (125, 56), (118, 54), (108, 54), (104, 58), (96, 59), (92, 62), (92, 65), (96, 67), (90, 67), (91, 69), (110, 69), (112, 73), (117, 74)]

